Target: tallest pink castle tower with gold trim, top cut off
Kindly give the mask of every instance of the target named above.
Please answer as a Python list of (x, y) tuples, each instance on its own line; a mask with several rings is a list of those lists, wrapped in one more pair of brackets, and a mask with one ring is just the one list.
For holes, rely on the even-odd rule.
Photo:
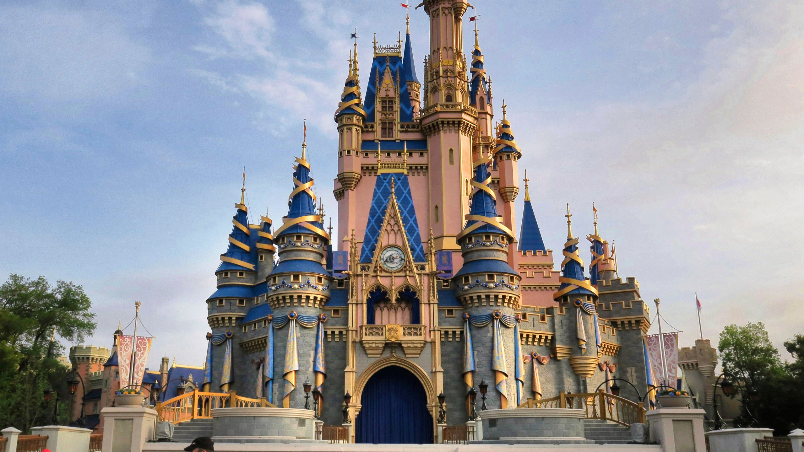
[(462, 16), (465, 0), (428, 0), (430, 54), (425, 61), (421, 130), (429, 149), (429, 224), (435, 249), (459, 251), (456, 235), (469, 212), (472, 142), (478, 110), (466, 85)]

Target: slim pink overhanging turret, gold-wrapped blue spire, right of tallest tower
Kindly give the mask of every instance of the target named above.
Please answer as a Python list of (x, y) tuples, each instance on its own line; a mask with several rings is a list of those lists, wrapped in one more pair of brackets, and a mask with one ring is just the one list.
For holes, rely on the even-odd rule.
[[(514, 139), (511, 121), (506, 117), (506, 106), (503, 102), (503, 121), (500, 122), (497, 134), (497, 146), (494, 147), (494, 160), (500, 178), (499, 192), (503, 198), (503, 223), (511, 230), (515, 229), (514, 200), (519, 194), (519, 168), (517, 161), (522, 157), (519, 146)], [(508, 257), (508, 263), (516, 266), (515, 253)]]

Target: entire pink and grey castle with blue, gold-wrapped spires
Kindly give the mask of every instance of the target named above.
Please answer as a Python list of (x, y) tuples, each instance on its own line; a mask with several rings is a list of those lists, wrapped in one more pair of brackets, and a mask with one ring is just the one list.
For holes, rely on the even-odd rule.
[[(506, 106), (495, 112), (477, 31), (464, 50), (469, 3), (421, 6), (423, 68), (409, 29), (395, 45), (374, 40), (367, 72), (356, 41), (351, 52), (334, 109), (338, 235), (326, 230), (306, 145), (288, 171), (286, 216), (251, 224), (244, 197), (235, 204), (207, 298), (203, 390), (309, 402), (326, 425), (354, 421), (355, 440), (369, 443), (433, 442), (437, 423), (472, 416), (478, 390), (478, 409), (594, 392), (615, 374), (644, 393), (650, 321), (638, 282), (618, 277), (597, 220), (573, 225), (569, 208), (556, 267), (519, 172), (527, 149)], [(631, 388), (622, 396), (636, 399)]]

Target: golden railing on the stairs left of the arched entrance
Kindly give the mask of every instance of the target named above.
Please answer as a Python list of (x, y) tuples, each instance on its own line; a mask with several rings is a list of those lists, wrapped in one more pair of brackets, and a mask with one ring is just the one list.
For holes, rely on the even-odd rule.
[(195, 389), (181, 396), (173, 397), (156, 404), (159, 421), (179, 422), (192, 421), (193, 419), (207, 419), (212, 417), (211, 410), (215, 408), (258, 408), (272, 407), (276, 405), (262, 397), (252, 399), (240, 397), (235, 391), (229, 392), (201, 392)]

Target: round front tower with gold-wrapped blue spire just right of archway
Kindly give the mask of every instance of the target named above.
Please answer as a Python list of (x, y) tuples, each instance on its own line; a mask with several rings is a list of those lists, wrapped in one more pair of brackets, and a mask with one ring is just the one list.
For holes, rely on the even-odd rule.
[[(496, 389), (489, 392), (486, 402), (495, 409), (516, 403), (513, 318), (515, 310), (519, 310), (519, 275), (507, 262), (514, 236), (499, 221), (494, 191), (489, 186), (490, 162), (490, 155), (482, 154), (474, 164), (472, 206), (466, 226), (457, 236), (463, 266), (454, 279), (456, 296), (466, 314), (476, 319), (488, 315), (492, 318), (492, 325), (471, 327), (476, 356), (472, 377), (474, 384), (486, 381)], [(510, 327), (503, 325), (507, 319)], [(492, 329), (492, 334), (486, 328)], [(495, 349), (498, 353), (494, 353)], [(499, 360), (500, 356), (505, 359)]]

